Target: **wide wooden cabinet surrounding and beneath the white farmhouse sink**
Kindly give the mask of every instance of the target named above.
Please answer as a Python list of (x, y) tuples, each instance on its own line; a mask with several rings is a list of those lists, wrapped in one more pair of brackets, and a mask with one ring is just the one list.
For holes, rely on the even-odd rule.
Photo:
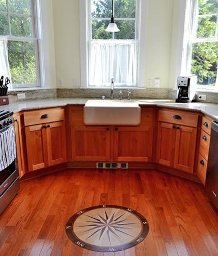
[(141, 110), (138, 126), (89, 126), (83, 121), (83, 106), (69, 107), (70, 161), (152, 160), (154, 108)]

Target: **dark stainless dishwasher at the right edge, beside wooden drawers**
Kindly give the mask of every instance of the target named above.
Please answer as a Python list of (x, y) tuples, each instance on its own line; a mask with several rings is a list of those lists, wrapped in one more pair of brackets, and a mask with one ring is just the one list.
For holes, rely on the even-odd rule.
[(218, 209), (218, 122), (212, 122), (205, 189)]

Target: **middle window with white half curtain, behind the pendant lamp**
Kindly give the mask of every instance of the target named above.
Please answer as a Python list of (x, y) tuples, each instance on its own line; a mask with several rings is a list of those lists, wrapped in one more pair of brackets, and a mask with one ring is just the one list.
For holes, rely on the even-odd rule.
[[(85, 6), (81, 3), (81, 42), (85, 42), (81, 46), (81, 87), (109, 86), (112, 78), (117, 87), (136, 87), (140, 84), (140, 69), (145, 73), (144, 60), (139, 57), (140, 52), (143, 56), (141, 42), (145, 34), (145, 26), (143, 33), (140, 33), (141, 2), (114, 1), (115, 23), (120, 29), (116, 33), (105, 31), (112, 16), (112, 0), (87, 0)], [(84, 7), (86, 23), (82, 26)], [(143, 46), (145, 47), (145, 41)], [(86, 80), (82, 65), (86, 66)]]

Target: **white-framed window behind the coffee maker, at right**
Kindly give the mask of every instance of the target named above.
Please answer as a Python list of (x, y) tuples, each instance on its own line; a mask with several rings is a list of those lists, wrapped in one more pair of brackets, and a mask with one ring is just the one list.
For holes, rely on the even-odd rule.
[(218, 87), (218, 0), (192, 0), (187, 37), (186, 73), (196, 74), (200, 88)]

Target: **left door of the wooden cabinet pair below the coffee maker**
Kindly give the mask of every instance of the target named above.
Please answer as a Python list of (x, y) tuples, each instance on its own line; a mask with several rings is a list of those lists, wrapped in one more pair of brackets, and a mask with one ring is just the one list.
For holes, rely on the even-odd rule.
[(159, 122), (157, 131), (157, 163), (169, 167), (174, 165), (175, 137), (174, 124)]

